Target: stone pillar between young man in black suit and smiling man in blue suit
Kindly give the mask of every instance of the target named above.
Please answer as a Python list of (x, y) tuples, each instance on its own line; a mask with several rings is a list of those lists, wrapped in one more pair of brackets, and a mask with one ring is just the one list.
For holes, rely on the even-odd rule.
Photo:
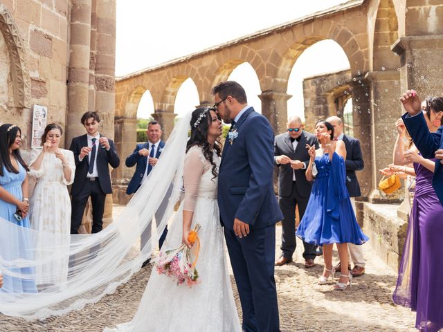
[(125, 159), (136, 148), (138, 120), (135, 118), (116, 118), (114, 123), (115, 143), (118, 156), (120, 156), (120, 167), (112, 172), (114, 178), (112, 196), (114, 203), (126, 204), (131, 198), (131, 196), (126, 194), (126, 189), (134, 175), (135, 167), (126, 167)]

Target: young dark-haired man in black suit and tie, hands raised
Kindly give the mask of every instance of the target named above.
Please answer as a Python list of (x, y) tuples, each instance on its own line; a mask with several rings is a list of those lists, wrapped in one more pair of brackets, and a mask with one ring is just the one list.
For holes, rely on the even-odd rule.
[(71, 234), (78, 234), (89, 196), (92, 205), (92, 232), (102, 230), (105, 198), (112, 193), (109, 165), (113, 168), (120, 165), (114, 142), (98, 133), (98, 113), (84, 113), (81, 122), (87, 133), (73, 138), (69, 148), (74, 153), (76, 167), (71, 188)]

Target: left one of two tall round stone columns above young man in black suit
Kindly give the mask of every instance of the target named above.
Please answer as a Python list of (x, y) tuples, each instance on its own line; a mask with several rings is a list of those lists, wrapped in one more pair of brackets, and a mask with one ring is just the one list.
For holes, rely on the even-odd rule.
[(72, 0), (70, 27), (68, 112), (65, 136), (67, 147), (71, 145), (73, 137), (84, 134), (80, 118), (89, 107), (91, 0)]

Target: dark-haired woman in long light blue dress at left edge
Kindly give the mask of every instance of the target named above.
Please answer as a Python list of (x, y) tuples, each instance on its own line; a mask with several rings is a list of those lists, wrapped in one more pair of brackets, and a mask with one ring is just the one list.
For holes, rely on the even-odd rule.
[[(1, 222), (15, 223), (30, 228), (28, 219), (28, 166), (20, 155), (21, 130), (14, 124), (0, 127), (0, 218)], [(1, 225), (1, 223), (0, 223)], [(8, 228), (10, 229), (10, 228)], [(6, 232), (2, 230), (0, 232)], [(26, 232), (12, 232), (10, 243), (0, 243), (0, 256), (6, 261), (32, 259), (30, 235)], [(13, 250), (11, 248), (14, 248)], [(35, 293), (32, 268), (1, 269), (3, 288), (9, 293)]]

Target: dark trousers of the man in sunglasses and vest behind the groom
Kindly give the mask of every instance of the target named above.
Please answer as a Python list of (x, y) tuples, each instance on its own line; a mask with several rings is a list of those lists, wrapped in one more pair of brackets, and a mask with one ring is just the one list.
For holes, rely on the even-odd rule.
[[(298, 193), (296, 187), (296, 181), (292, 182), (291, 194), (287, 197), (279, 197), (278, 205), (282, 210), (284, 219), (282, 220), (282, 256), (287, 259), (292, 259), (292, 254), (296, 251), (296, 205), (298, 205), (298, 214), (300, 220), (305, 214), (307, 202), (309, 196), (302, 197)], [(316, 258), (316, 246), (311, 243), (303, 241), (305, 251), (303, 252), (303, 258), (315, 259)]]

